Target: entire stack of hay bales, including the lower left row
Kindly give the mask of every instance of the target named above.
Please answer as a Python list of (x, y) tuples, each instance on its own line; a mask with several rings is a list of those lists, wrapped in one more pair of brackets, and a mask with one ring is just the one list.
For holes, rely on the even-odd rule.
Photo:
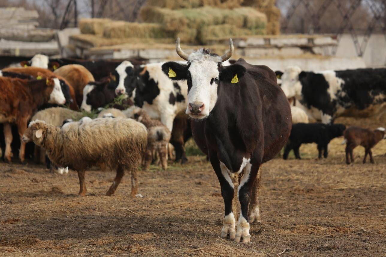
[(111, 46), (134, 39), (165, 42), (180, 37), (185, 44), (208, 44), (227, 37), (278, 34), (279, 11), (274, 3), (275, 0), (147, 0), (140, 10), (143, 23), (82, 19), (79, 37), (96, 47), (93, 41)]

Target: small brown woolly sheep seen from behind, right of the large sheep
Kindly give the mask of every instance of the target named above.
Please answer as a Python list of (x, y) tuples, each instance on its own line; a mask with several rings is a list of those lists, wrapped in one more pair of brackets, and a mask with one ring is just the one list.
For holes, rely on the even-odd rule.
[(152, 153), (157, 152), (164, 170), (168, 167), (168, 143), (171, 133), (159, 120), (153, 120), (146, 111), (136, 108), (133, 112), (134, 119), (144, 124), (147, 128), (147, 148), (142, 159), (144, 170), (149, 168), (152, 161)]

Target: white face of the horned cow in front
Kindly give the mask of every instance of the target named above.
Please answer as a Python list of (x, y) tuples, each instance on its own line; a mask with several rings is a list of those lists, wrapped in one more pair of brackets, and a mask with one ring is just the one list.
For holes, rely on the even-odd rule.
[(217, 101), (220, 56), (204, 53), (203, 49), (189, 55), (187, 72), (188, 106), (186, 114), (192, 118), (206, 118)]

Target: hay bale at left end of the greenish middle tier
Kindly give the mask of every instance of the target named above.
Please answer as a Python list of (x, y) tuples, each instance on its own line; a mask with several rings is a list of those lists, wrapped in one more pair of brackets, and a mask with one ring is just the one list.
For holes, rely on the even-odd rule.
[(140, 15), (144, 22), (162, 24), (164, 29), (170, 32), (183, 31), (188, 23), (183, 14), (168, 8), (144, 6)]

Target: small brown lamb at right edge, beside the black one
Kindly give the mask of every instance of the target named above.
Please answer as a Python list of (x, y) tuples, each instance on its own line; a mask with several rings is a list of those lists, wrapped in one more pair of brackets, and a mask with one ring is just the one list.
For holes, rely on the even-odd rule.
[(346, 163), (350, 164), (350, 159), (351, 162), (354, 162), (352, 151), (358, 145), (362, 145), (365, 149), (363, 163), (366, 163), (367, 154), (370, 156), (370, 162), (374, 163), (371, 148), (378, 144), (381, 139), (386, 139), (385, 128), (377, 128), (374, 131), (354, 126), (347, 128), (344, 131), (344, 141), (342, 143), (346, 143)]

